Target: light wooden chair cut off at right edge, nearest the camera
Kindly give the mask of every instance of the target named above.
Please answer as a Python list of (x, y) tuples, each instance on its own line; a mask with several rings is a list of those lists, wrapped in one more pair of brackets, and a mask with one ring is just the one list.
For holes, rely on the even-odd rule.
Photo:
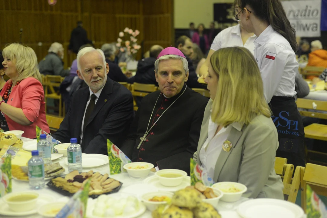
[[(327, 167), (307, 163), (301, 167), (301, 206), (306, 209), (306, 185), (309, 184), (313, 191), (319, 195), (327, 196)], [(301, 175), (301, 176), (302, 176)]]

